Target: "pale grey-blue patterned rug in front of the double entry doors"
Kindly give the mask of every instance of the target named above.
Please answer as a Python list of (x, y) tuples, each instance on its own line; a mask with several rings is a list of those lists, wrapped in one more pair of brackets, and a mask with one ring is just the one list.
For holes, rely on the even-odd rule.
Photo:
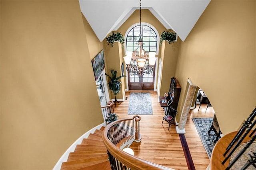
[(131, 93), (128, 115), (153, 115), (150, 93)]

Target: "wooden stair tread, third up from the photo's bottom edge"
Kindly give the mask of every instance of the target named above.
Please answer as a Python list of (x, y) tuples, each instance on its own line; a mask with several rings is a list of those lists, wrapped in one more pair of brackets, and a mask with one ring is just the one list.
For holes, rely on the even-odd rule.
[(94, 157), (101, 157), (101, 156), (106, 156), (108, 155), (107, 152), (103, 151), (100, 153), (95, 153), (92, 152), (71, 152), (68, 156), (68, 161), (73, 161), (73, 160), (80, 160), (80, 159), (87, 159), (87, 158), (94, 158)]

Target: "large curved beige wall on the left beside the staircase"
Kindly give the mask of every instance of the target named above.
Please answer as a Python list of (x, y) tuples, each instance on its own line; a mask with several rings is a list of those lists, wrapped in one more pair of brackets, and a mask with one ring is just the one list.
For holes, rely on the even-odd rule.
[[(103, 123), (78, 1), (0, 1), (0, 169), (52, 169)], [(96, 49), (95, 49), (96, 48)]]

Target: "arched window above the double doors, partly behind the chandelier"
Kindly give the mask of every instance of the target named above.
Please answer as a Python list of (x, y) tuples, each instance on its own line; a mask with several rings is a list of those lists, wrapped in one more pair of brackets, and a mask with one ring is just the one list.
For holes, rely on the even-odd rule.
[(140, 23), (132, 25), (125, 33), (125, 51), (134, 51), (138, 45), (136, 42), (140, 38), (140, 34), (144, 41), (143, 49), (146, 52), (156, 52), (158, 55), (159, 51), (159, 34), (156, 28), (149, 23), (141, 23), (141, 32), (140, 32)]

